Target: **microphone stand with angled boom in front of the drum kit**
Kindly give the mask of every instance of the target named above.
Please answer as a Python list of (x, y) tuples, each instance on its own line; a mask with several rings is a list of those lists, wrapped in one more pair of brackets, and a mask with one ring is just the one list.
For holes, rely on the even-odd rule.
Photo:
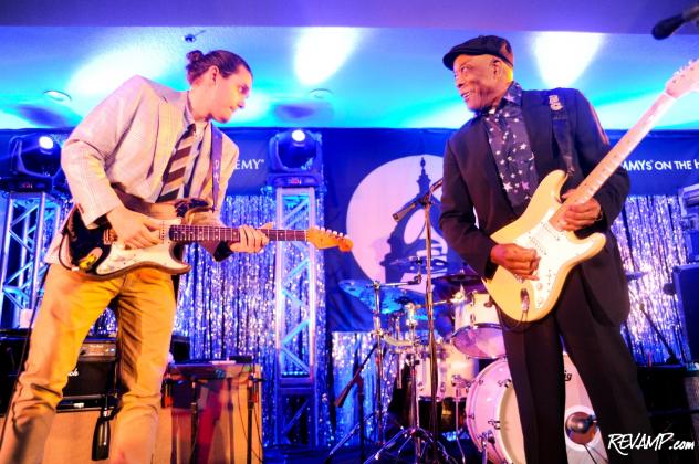
[[(431, 433), (419, 426), (419, 410), (418, 410), (418, 403), (417, 403), (418, 401), (417, 388), (415, 384), (416, 382), (415, 382), (415, 357), (414, 357), (413, 361), (410, 362), (410, 376), (413, 378), (413, 382), (411, 382), (413, 384), (410, 388), (410, 408), (415, 409), (413, 421), (411, 421), (415, 425), (405, 430), (401, 434), (397, 434), (396, 436), (394, 436), (388, 443), (386, 443), (386, 445), (384, 445), (382, 449), (378, 450), (378, 452), (376, 452), (376, 454), (373, 456), (374, 460), (378, 460), (380, 457), (382, 452), (390, 447), (400, 437), (407, 437), (407, 440), (398, 449), (398, 454), (400, 454), (400, 451), (403, 450), (403, 447), (410, 440), (415, 440), (415, 456), (414, 457), (416, 462), (422, 455), (422, 452), (425, 451), (425, 450), (421, 450), (421, 442), (425, 442), (426, 444), (430, 445), (432, 450), (432, 453), (431, 453), (432, 461), (437, 462), (439, 457), (442, 457), (442, 460), (446, 462), (449, 462), (450, 460), (444, 446), (441, 446), (441, 444), (438, 441), (439, 424), (437, 421), (437, 383), (438, 383), (437, 345), (435, 340), (435, 317), (434, 317), (435, 306), (434, 306), (432, 292), (431, 292), (432, 289), (432, 278), (431, 278), (432, 234), (431, 234), (431, 223), (429, 219), (429, 213), (430, 213), (430, 207), (432, 204), (431, 196), (435, 192), (435, 190), (441, 187), (441, 182), (442, 182), (441, 179), (438, 180), (432, 186), (430, 186), (427, 192), (425, 192), (424, 194), (419, 194), (415, 200), (408, 203), (404, 209), (393, 214), (394, 220), (400, 221), (408, 212), (410, 212), (413, 209), (417, 208), (418, 205), (421, 205), (425, 211), (425, 229), (426, 229), (425, 246), (426, 246), (426, 252), (427, 252), (426, 253), (426, 273), (425, 273), (426, 275), (425, 307), (427, 308), (427, 324), (428, 324), (428, 336), (429, 336), (428, 345), (429, 345), (430, 379), (431, 379), (430, 381), (430, 387), (431, 387), (431, 392), (430, 392), (431, 393), (430, 394), (431, 431), (430, 432)], [(377, 306), (377, 309), (378, 309), (378, 306)], [(416, 340), (417, 337), (415, 336), (415, 328), (413, 327), (410, 331), (413, 335), (414, 342), (417, 342)]]

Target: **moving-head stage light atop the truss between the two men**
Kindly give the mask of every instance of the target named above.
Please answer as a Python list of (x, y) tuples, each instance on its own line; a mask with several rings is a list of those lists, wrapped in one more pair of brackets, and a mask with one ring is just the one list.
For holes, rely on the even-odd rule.
[(270, 139), (268, 183), (274, 187), (316, 187), (323, 181), (322, 137), (292, 129)]

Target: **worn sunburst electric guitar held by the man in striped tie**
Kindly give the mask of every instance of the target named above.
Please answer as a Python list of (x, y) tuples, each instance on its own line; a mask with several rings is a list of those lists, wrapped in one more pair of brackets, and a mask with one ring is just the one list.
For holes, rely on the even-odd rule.
[[(174, 203), (134, 203), (129, 209), (160, 222), (159, 243), (144, 249), (125, 249), (114, 229), (105, 222), (87, 229), (76, 209), (73, 209), (63, 229), (61, 263), (72, 271), (97, 278), (111, 278), (136, 267), (157, 267), (169, 274), (184, 274), (191, 266), (176, 256), (178, 243), (240, 240), (239, 230), (217, 225), (190, 225), (192, 214), (207, 211), (208, 203), (200, 199), (184, 199)], [(337, 232), (311, 228), (307, 230), (259, 229), (272, 241), (310, 242), (317, 249), (337, 246), (352, 250), (352, 240)]]

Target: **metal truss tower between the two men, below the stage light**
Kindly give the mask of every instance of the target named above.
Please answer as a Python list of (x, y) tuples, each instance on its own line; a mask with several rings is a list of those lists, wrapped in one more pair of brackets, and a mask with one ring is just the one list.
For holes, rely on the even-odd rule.
[[(314, 188), (277, 189), (277, 228), (309, 229), (316, 218)], [(306, 242), (277, 242), (275, 260), (274, 444), (315, 447), (319, 252)]]

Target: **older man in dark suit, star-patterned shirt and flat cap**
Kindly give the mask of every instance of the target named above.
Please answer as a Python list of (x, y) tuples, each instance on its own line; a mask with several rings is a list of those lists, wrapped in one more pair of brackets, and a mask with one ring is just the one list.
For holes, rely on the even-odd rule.
[[(445, 238), (482, 277), (492, 277), (502, 266), (522, 280), (536, 280), (535, 250), (490, 236), (524, 212), (540, 180), (552, 170), (568, 172), (563, 191), (570, 193), (607, 154), (607, 137), (578, 91), (522, 91), (513, 81), (514, 55), (504, 39), (471, 39), (453, 46), (444, 64), (453, 71), (459, 95), (474, 112), (445, 151)], [(580, 236), (601, 232), (606, 244), (572, 270), (549, 315), (523, 323), (501, 313), (529, 463), (567, 461), (564, 348), (590, 394), (609, 462), (657, 461), (651, 451), (628, 450), (625, 456), (609, 447), (612, 434), (653, 434), (636, 366), (619, 333), (629, 300), (609, 228), (628, 188), (627, 173), (618, 169), (591, 200), (564, 213), (564, 230)]]

